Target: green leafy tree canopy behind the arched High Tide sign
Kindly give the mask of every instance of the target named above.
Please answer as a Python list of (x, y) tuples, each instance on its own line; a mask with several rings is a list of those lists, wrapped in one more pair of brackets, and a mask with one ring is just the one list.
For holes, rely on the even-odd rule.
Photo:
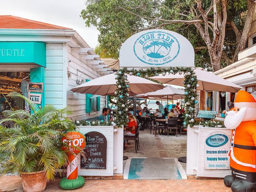
[[(211, 0), (202, 1), (203, 9), (207, 11), (211, 2)], [(138, 8), (137, 5), (141, 8)], [(195, 14), (188, 13), (191, 12), (190, 8), (196, 10), (194, 11)], [(217, 3), (217, 9), (221, 9), (220, 1)], [(243, 12), (246, 10), (246, 0), (227, 1), (227, 21), (233, 21), (236, 27), (243, 31), (246, 16)], [(118, 56), (121, 45), (133, 34), (145, 29), (161, 28), (185, 36), (195, 49), (195, 66), (212, 71), (208, 48), (194, 25), (179, 22), (170, 24), (168, 21), (156, 19), (202, 19), (200, 16), (197, 18), (197, 15), (200, 15), (200, 12), (195, 0), (88, 0), (85, 9), (81, 12), (86, 26), (93, 25), (100, 31), (98, 38), (100, 46), (112, 55)], [(209, 21), (213, 22), (213, 11), (209, 12), (208, 18)], [(213, 33), (210, 29), (209, 35), (213, 39)], [(229, 25), (226, 25), (223, 50), (232, 61), (236, 50), (236, 35)], [(221, 67), (226, 65), (223, 59)]]

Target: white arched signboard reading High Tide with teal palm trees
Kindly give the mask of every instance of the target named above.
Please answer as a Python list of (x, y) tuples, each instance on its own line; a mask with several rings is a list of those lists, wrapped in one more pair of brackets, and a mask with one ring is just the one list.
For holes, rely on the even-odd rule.
[(195, 52), (184, 36), (150, 29), (129, 37), (119, 57), (120, 67), (194, 67)]

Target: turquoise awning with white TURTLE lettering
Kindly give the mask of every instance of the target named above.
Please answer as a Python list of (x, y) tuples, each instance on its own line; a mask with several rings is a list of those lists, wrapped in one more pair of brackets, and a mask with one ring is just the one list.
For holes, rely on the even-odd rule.
[(45, 43), (0, 42), (0, 63), (33, 63), (46, 67)]

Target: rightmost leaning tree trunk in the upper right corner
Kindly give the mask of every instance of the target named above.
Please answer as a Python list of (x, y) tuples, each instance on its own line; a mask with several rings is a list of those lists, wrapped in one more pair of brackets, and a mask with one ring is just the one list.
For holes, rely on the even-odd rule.
[(245, 22), (244, 22), (244, 29), (243, 29), (243, 33), (241, 36), (241, 39), (238, 43), (238, 45), (236, 46), (236, 51), (235, 51), (235, 55), (233, 57), (233, 62), (236, 62), (238, 59), (238, 53), (243, 51), (246, 45), (246, 41), (250, 32), (250, 28), (252, 25), (252, 17), (253, 17), (253, 12), (254, 12), (254, 8), (255, 8), (255, 4), (254, 0), (247, 0), (247, 15), (245, 18)]

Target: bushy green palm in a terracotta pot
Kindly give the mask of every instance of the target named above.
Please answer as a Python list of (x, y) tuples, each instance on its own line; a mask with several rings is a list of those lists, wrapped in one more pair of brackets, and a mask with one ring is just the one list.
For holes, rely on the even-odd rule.
[[(68, 161), (61, 149), (60, 137), (75, 125), (66, 115), (67, 108), (57, 109), (52, 105), (38, 108), (20, 93), (9, 97), (20, 97), (28, 102), (31, 113), (26, 110), (5, 110), (5, 119), (0, 120), (0, 176), (7, 172), (21, 174), (24, 191), (37, 192), (46, 188), (47, 180), (54, 180), (55, 169)], [(13, 123), (6, 128), (3, 122)]]

